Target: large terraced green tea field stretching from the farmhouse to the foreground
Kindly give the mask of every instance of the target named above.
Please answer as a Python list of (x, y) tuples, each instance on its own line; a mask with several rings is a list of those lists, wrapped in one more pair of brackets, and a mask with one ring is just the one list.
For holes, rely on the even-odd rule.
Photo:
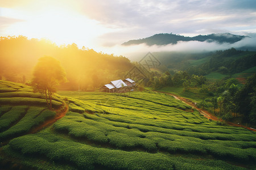
[[(0, 150), (3, 165), (15, 162), (39, 169), (256, 168), (254, 131), (219, 126), (170, 95), (152, 91), (62, 91), (59, 95), (63, 98), (55, 96), (56, 102), (65, 100), (69, 112), (38, 133), (13, 135)], [(7, 100), (2, 99), (8, 98), (5, 96), (9, 95), (0, 100)], [(42, 113), (47, 110), (39, 106), (1, 103), (0, 121), (10, 111), (26, 113), (24, 117), (31, 112), (32, 118), (46, 115)], [(5, 125), (0, 137), (14, 127), (11, 124)], [(27, 123), (20, 120), (19, 124)]]

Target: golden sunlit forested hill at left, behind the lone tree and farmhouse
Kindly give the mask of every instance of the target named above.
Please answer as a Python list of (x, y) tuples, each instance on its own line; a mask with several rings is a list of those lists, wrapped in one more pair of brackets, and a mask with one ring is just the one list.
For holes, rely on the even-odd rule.
[(120, 79), (133, 67), (123, 56), (79, 49), (76, 44), (57, 46), (43, 39), (9, 36), (0, 38), (0, 79), (30, 82), (34, 66), (44, 56), (56, 58), (64, 67), (68, 82), (61, 85), (66, 90), (93, 90)]

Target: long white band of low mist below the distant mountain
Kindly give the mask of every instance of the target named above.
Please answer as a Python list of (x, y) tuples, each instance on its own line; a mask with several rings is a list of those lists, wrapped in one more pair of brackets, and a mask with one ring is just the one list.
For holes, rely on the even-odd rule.
[(240, 48), (242, 46), (255, 46), (256, 44), (256, 33), (249, 33), (251, 37), (238, 41), (234, 44), (224, 43), (219, 44), (217, 42), (200, 42), (200, 41), (178, 41), (177, 44), (171, 45), (152, 45), (147, 46), (146, 44), (139, 45), (115, 45), (112, 47), (105, 47), (101, 49), (106, 53), (114, 53), (116, 56), (122, 55), (130, 58), (132, 61), (138, 61), (139, 58), (143, 57), (148, 52), (189, 52), (189, 53), (200, 53), (200, 52), (212, 52), (216, 50), (226, 50), (230, 48)]

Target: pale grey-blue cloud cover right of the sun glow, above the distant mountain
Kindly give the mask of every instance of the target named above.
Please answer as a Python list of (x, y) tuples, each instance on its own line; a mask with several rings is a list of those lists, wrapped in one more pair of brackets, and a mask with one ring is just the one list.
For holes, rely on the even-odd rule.
[[(246, 5), (245, 5), (246, 3)], [(249, 4), (249, 5), (247, 5)], [(256, 1), (90, 1), (82, 5), (82, 12), (101, 24), (118, 28), (101, 36), (104, 44), (109, 39), (128, 41), (156, 33), (209, 34), (249, 30), (256, 23)], [(251, 30), (253, 29), (253, 30)], [(117, 37), (114, 36), (116, 33)], [(223, 32), (222, 32), (223, 33)], [(127, 35), (130, 39), (126, 39)], [(119, 42), (118, 41), (118, 42)]]

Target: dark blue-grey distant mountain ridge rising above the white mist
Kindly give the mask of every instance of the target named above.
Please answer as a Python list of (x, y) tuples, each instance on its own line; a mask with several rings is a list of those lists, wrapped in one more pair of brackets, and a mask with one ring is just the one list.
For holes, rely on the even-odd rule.
[(177, 44), (177, 41), (201, 41), (201, 42), (216, 41), (220, 44), (224, 42), (233, 44), (234, 42), (244, 39), (245, 37), (249, 37), (249, 36), (233, 35), (231, 33), (212, 33), (210, 35), (198, 35), (195, 37), (185, 37), (181, 35), (175, 35), (172, 33), (159, 33), (144, 39), (130, 40), (130, 41), (124, 42), (122, 45), (133, 45), (133, 44), (142, 44), (142, 43), (145, 43), (149, 46), (167, 45), (167, 44)]

